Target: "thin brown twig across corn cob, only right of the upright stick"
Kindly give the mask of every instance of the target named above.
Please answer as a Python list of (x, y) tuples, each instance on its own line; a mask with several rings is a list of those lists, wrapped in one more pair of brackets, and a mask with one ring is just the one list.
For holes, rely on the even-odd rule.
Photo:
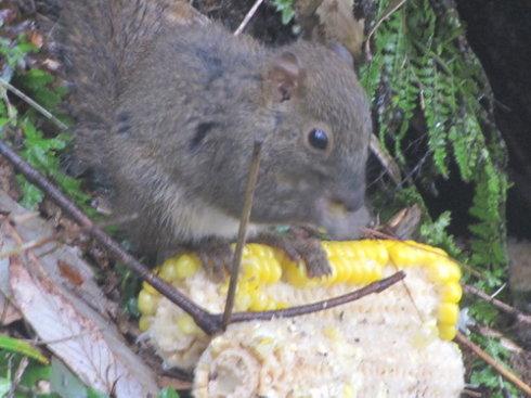
[(326, 300), (307, 304), (297, 307), (290, 307), (285, 309), (279, 309), (274, 311), (260, 311), (260, 312), (235, 312), (231, 317), (231, 323), (237, 322), (248, 322), (254, 320), (269, 321), (277, 318), (295, 318), (308, 313), (314, 313), (319, 311), (323, 311), (325, 309), (342, 306), (345, 304), (354, 301), (362, 297), (365, 297), (373, 293), (380, 293), (386, 288), (389, 288), (397, 282), (403, 280), (405, 278), (404, 271), (399, 271), (393, 273), (392, 275), (381, 279), (377, 282), (373, 282), (358, 291), (350, 292), (344, 294), (342, 296), (337, 296), (333, 298), (328, 298)]

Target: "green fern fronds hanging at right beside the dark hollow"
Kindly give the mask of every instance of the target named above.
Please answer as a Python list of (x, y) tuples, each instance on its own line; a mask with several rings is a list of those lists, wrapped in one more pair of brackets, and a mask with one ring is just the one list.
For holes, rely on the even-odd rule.
[[(378, 17), (386, 14), (389, 0), (378, 2)], [(396, 2), (394, 2), (396, 3)], [(392, 4), (391, 4), (392, 5)], [(428, 0), (405, 2), (376, 30), (372, 62), (363, 65), (361, 81), (375, 104), (376, 131), (403, 175), (411, 168), (406, 153), (414, 117), (425, 124), (426, 150), (429, 154), (415, 185), (430, 184), (437, 178), (458, 178), (474, 190), (469, 207), (467, 246), (462, 249), (448, 232), (451, 213), (437, 220), (427, 219), (420, 234), (430, 244), (444, 247), (467, 268), (482, 278), (467, 274), (468, 283), (492, 292), (507, 274), (505, 201), (508, 187), (506, 153), (500, 133), (492, 128), (489, 110), (478, 99), (489, 98), (489, 85), (482, 67), (469, 48), (456, 11), (433, 10)], [(455, 165), (455, 167), (451, 167)], [(451, 171), (452, 170), (452, 171)], [(455, 177), (455, 176), (452, 176)], [(410, 197), (412, 195), (409, 195)], [(420, 194), (413, 195), (424, 202)], [(424, 206), (424, 203), (422, 203)], [(479, 323), (492, 324), (497, 311), (484, 303), (472, 303), (470, 314)], [(507, 352), (493, 338), (474, 336), (497, 360)], [(509, 388), (494, 372), (478, 361), (471, 383), (492, 389), (502, 397)]]

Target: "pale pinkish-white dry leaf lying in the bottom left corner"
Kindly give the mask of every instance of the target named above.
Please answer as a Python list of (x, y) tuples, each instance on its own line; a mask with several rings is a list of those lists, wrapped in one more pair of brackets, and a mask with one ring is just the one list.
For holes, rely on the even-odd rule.
[(21, 257), (10, 259), (14, 300), (38, 336), (88, 386), (115, 397), (155, 395), (151, 370), (114, 329), (79, 301), (70, 301), (43, 275), (31, 275)]

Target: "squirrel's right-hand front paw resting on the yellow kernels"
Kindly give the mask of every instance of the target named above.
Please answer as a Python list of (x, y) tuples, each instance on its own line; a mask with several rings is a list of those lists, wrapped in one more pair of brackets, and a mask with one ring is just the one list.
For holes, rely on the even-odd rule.
[(303, 261), (308, 277), (320, 278), (332, 273), (326, 253), (321, 241), (310, 235), (306, 229), (292, 228), (289, 233), (263, 233), (252, 240), (283, 249), (294, 261)]

